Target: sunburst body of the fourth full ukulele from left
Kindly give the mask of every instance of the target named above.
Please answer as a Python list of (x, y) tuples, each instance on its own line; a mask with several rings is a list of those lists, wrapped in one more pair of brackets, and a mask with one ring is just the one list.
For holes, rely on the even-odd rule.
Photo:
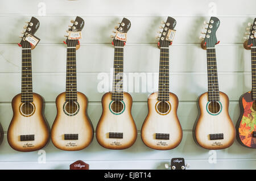
[[(158, 102), (158, 92), (154, 92), (148, 97), (148, 115), (141, 129), (142, 141), (152, 149), (174, 149), (182, 140), (182, 128), (177, 117), (179, 100), (175, 94), (170, 92), (168, 102), (171, 106), (164, 114), (158, 111)], [(170, 139), (156, 139), (156, 133), (169, 134)]]

